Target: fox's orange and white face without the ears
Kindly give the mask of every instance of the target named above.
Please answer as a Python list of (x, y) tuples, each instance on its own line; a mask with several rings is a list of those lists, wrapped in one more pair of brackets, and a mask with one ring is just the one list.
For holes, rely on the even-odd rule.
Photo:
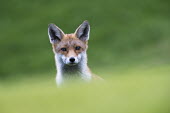
[(53, 46), (54, 53), (60, 56), (64, 64), (70, 66), (76, 65), (81, 61), (86, 49), (86, 43), (74, 35), (65, 35), (64, 39)]

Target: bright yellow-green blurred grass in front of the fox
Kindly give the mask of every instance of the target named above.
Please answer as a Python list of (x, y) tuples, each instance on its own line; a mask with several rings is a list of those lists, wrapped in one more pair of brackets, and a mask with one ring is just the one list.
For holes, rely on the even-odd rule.
[(104, 82), (62, 88), (54, 76), (1, 82), (0, 113), (169, 113), (169, 69), (106, 70)]

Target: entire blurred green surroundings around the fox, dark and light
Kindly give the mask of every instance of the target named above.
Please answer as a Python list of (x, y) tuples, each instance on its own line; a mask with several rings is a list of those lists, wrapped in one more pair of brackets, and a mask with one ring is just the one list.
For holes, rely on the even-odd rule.
[[(168, 113), (169, 12), (168, 0), (0, 0), (0, 113)], [(57, 89), (48, 24), (84, 20), (89, 67), (107, 82)]]

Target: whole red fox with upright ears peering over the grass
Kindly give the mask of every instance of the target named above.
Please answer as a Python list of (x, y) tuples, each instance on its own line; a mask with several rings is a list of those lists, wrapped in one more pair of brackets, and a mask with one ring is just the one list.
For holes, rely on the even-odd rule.
[(65, 34), (55, 24), (49, 24), (48, 36), (55, 55), (58, 85), (74, 77), (85, 81), (100, 78), (93, 75), (87, 66), (89, 33), (88, 21), (84, 21), (72, 34)]

